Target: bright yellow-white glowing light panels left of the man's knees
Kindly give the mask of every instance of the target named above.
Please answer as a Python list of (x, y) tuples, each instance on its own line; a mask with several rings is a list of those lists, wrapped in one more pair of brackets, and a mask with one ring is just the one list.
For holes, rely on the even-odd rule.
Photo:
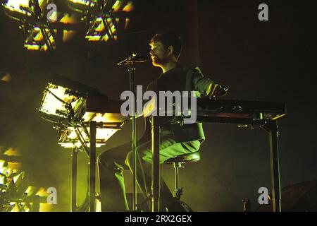
[(86, 100), (87, 94), (53, 83), (46, 85), (39, 113), (44, 119), (58, 124), (58, 144), (64, 148), (89, 147), (89, 121), (103, 123), (97, 127), (97, 147), (106, 144), (118, 131), (118, 126), (107, 124), (113, 121), (113, 114), (86, 112)]

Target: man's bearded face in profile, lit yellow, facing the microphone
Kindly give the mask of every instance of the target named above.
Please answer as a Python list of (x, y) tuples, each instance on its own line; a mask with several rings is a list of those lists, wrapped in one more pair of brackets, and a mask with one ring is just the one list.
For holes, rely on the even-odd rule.
[(151, 42), (151, 59), (153, 66), (162, 66), (168, 61), (168, 49), (161, 42)]

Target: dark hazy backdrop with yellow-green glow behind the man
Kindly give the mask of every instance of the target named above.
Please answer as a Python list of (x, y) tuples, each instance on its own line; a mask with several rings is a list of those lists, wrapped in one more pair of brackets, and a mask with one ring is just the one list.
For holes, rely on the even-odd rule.
[[(70, 150), (57, 144), (56, 131), (35, 110), (52, 73), (102, 90), (119, 99), (128, 90), (128, 73), (116, 66), (132, 51), (148, 53), (156, 32), (172, 31), (183, 40), (182, 64), (198, 65), (204, 76), (230, 88), (226, 99), (285, 102), (280, 126), (282, 188), (317, 179), (316, 165), (316, 5), (302, 1), (136, 0), (128, 30), (116, 44), (85, 41), (85, 24), (56, 52), (24, 49), (18, 22), (0, 11), (0, 71), (12, 80), (0, 90), (0, 146), (16, 148), (34, 186), (54, 186), (56, 211), (70, 210)], [(58, 10), (66, 11), (63, 1)], [(258, 6), (268, 4), (269, 20), (258, 20)], [(149, 62), (137, 66), (137, 84), (147, 85), (161, 71)], [(143, 133), (138, 119), (138, 134)], [(180, 172), (183, 200), (196, 211), (241, 211), (242, 198), (255, 210), (258, 189), (271, 189), (268, 135), (255, 127), (204, 124), (202, 160)], [(130, 124), (98, 153), (130, 141)], [(173, 169), (161, 167), (173, 189)], [(85, 196), (87, 160), (80, 155), (80, 197)], [(132, 191), (131, 178), (126, 180)]]

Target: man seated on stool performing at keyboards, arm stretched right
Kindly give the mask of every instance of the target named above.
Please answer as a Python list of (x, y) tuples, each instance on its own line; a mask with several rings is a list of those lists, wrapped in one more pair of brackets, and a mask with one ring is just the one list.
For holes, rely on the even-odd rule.
[[(159, 66), (163, 73), (156, 81), (148, 85), (147, 90), (190, 91), (195, 90), (202, 95), (217, 98), (225, 95), (227, 88), (220, 83), (204, 78), (200, 70), (187, 69), (178, 64), (182, 43), (177, 35), (172, 33), (156, 34), (151, 38), (151, 59), (154, 66)], [(189, 76), (188, 76), (189, 75)], [(188, 81), (186, 78), (190, 78)], [(188, 90), (190, 89), (190, 90)], [(171, 157), (197, 152), (204, 141), (204, 131), (201, 123), (171, 124), (170, 121), (161, 124), (160, 132), (160, 163)], [(137, 142), (138, 164), (137, 183), (144, 197), (151, 192), (151, 126), (146, 121), (144, 136)], [(125, 196), (123, 170), (132, 172), (132, 144), (127, 143), (106, 150), (98, 158), (102, 211), (128, 211), (129, 206)], [(127, 168), (128, 167), (128, 168)], [(161, 209), (183, 211), (180, 203), (175, 201), (166, 183), (161, 179)]]

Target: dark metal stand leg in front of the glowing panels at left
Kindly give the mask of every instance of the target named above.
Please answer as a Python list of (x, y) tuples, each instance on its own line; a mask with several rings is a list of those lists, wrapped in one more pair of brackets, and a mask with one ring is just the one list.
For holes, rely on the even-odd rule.
[(89, 211), (95, 212), (96, 199), (96, 121), (90, 121), (90, 152), (89, 152)]

